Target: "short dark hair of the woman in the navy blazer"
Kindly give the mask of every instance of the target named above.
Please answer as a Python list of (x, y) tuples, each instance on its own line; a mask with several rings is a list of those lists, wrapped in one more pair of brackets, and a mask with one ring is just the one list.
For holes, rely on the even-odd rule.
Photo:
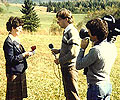
[(15, 29), (16, 27), (23, 26), (23, 25), (24, 25), (24, 22), (21, 18), (11, 16), (8, 22), (6, 23), (6, 28), (7, 28), (7, 31), (11, 31), (12, 27)]

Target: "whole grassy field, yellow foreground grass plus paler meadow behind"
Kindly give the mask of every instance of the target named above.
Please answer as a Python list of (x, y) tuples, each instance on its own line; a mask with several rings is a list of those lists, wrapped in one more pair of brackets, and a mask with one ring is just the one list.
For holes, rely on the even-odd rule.
[[(8, 10), (7, 13), (0, 15), (0, 100), (5, 100), (6, 92), (6, 75), (5, 75), (5, 59), (3, 53), (3, 42), (7, 37), (5, 23), (9, 16), (17, 15), (21, 16), (18, 12), (19, 7), (13, 7)], [(13, 12), (14, 11), (14, 12)], [(46, 13), (37, 11), (41, 18), (41, 29), (44, 30), (52, 23), (55, 16), (54, 13)], [(82, 21), (84, 15), (74, 15), (75, 23), (78, 20)], [(46, 31), (45, 30), (45, 31)], [(3, 34), (4, 33), (4, 34)], [(44, 34), (44, 33), (42, 33)], [(27, 73), (27, 86), (28, 86), (28, 98), (24, 100), (58, 100), (59, 98), (59, 84), (60, 80), (56, 77), (58, 75), (58, 66), (53, 63), (54, 57), (52, 56), (48, 45), (53, 43), (55, 48), (60, 48), (62, 36), (51, 35), (30, 35), (21, 34), (21, 43), (25, 47), (26, 51), (30, 50), (32, 45), (36, 45), (36, 54), (27, 59), (28, 69)], [(112, 67), (111, 82), (113, 84), (113, 91), (111, 100), (120, 100), (120, 37), (117, 37), (116, 41), (118, 56)], [(82, 74), (83, 70), (79, 71), (78, 85), (79, 96), (81, 100), (86, 100), (86, 77)], [(60, 100), (64, 100), (63, 87), (61, 85)]]

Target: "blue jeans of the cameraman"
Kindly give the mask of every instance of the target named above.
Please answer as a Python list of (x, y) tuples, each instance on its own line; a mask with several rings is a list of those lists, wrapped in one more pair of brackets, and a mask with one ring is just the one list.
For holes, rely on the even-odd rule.
[(102, 83), (100, 85), (89, 84), (87, 91), (87, 100), (110, 100), (112, 85)]

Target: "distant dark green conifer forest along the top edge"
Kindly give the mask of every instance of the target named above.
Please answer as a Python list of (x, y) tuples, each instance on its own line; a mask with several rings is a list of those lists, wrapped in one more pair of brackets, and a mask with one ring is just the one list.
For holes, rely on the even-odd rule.
[(120, 7), (119, 1), (111, 0), (84, 0), (84, 1), (66, 1), (66, 2), (40, 2), (39, 6), (47, 7), (47, 12), (56, 13), (60, 8), (67, 8), (72, 13), (87, 13), (96, 10), (106, 9), (107, 7)]

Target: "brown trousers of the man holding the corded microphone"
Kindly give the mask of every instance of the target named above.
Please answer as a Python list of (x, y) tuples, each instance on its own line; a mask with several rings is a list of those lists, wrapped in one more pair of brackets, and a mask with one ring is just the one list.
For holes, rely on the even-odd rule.
[(61, 68), (66, 100), (80, 100), (78, 96), (78, 71), (75, 66)]

